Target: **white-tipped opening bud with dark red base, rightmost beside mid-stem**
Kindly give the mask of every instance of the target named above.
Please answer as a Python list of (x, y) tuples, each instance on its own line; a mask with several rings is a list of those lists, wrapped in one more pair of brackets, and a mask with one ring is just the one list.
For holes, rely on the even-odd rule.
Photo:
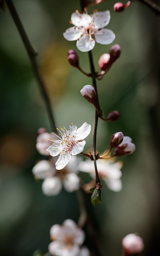
[(114, 155), (126, 156), (132, 154), (135, 151), (135, 149), (136, 146), (134, 143), (132, 143), (132, 139), (128, 136), (124, 136), (122, 143), (115, 148)]

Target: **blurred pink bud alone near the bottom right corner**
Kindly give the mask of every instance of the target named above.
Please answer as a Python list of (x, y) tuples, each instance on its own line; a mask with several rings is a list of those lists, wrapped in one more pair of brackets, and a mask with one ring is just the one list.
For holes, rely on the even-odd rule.
[(139, 255), (144, 250), (144, 242), (140, 236), (128, 234), (122, 239), (124, 255)]

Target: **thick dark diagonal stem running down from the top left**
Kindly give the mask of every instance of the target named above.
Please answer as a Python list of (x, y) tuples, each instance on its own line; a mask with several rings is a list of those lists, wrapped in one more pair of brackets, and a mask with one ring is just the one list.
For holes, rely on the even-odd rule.
[(36, 79), (37, 79), (38, 84), (39, 84), (40, 92), (41, 92), (42, 97), (44, 99), (46, 110), (47, 110), (47, 113), (48, 113), (48, 116), (49, 116), (50, 126), (51, 126), (52, 130), (56, 130), (56, 125), (55, 125), (54, 117), (53, 117), (53, 114), (52, 114), (52, 108), (51, 108), (51, 105), (50, 105), (50, 100), (48, 98), (48, 94), (46, 92), (46, 88), (45, 88), (45, 85), (44, 85), (44, 80), (43, 80), (43, 78), (40, 74), (38, 64), (37, 64), (37, 61), (36, 61), (36, 56), (38, 54), (37, 54), (37, 52), (35, 52), (35, 50), (33, 49), (32, 45), (31, 45), (31, 43), (28, 39), (26, 31), (24, 30), (24, 27), (22, 25), (22, 22), (21, 22), (19, 16), (18, 16), (18, 13), (16, 11), (16, 8), (14, 7), (14, 4), (13, 4), (12, 0), (5, 0), (5, 2), (8, 6), (10, 14), (11, 14), (13, 20), (14, 20), (14, 23), (15, 23), (17, 29), (18, 29), (20, 37), (21, 37), (21, 39), (24, 43), (24, 46), (25, 46), (26, 51), (28, 53), (28, 56), (30, 58), (32, 68), (34, 70)]

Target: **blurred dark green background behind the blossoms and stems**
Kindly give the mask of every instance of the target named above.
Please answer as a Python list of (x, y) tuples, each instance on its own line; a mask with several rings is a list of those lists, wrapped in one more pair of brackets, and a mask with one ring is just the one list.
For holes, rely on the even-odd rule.
[[(14, 4), (34, 49), (46, 82), (56, 126), (73, 122), (93, 124), (94, 108), (80, 94), (92, 84), (69, 66), (67, 51), (80, 57), (80, 66), (89, 72), (88, 54), (68, 42), (62, 33), (70, 26), (79, 1), (14, 0)], [(103, 80), (98, 82), (104, 116), (118, 110), (117, 122), (99, 121), (97, 149), (108, 148), (114, 132), (122, 131), (136, 144), (134, 154), (120, 158), (123, 189), (102, 189), (102, 205), (94, 207), (86, 196), (90, 215), (104, 255), (120, 256), (121, 240), (138, 232), (144, 239), (144, 256), (159, 256), (160, 240), (160, 17), (135, 1), (122, 13), (113, 12), (114, 1), (88, 8), (110, 10), (108, 28), (116, 34), (122, 55)], [(113, 45), (111, 44), (111, 45)], [(111, 45), (96, 44), (98, 59)], [(40, 248), (47, 252), (49, 230), (66, 218), (76, 222), (79, 209), (76, 193), (64, 190), (54, 197), (42, 193), (32, 168), (42, 158), (36, 151), (39, 127), (51, 132), (48, 115), (32, 71), (30, 60), (7, 6), (0, 10), (0, 255), (32, 256)], [(87, 150), (91, 136), (86, 139)], [(97, 228), (98, 227), (98, 228)], [(90, 244), (86, 245), (90, 247)]]

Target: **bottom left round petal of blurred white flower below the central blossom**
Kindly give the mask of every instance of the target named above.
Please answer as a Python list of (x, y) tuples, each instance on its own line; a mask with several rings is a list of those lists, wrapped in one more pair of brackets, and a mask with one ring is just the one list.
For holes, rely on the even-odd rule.
[(62, 189), (62, 183), (58, 177), (47, 177), (42, 183), (42, 191), (46, 196), (56, 196)]

